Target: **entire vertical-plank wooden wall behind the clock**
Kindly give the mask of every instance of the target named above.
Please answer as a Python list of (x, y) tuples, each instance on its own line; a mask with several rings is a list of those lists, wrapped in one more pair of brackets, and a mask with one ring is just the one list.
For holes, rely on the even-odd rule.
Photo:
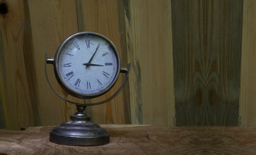
[[(94, 31), (116, 45), (129, 83), (86, 108), (96, 123), (256, 125), (254, 0), (0, 0), (0, 129), (58, 125), (76, 109), (49, 87), (45, 52)], [(58, 93), (73, 101), (57, 84)], [(116, 87), (98, 99), (108, 98)]]

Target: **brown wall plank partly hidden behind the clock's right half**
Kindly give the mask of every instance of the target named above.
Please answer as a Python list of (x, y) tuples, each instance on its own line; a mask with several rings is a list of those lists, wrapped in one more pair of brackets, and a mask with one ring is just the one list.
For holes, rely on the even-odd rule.
[[(80, 6), (81, 5), (81, 6)], [(125, 48), (125, 29), (123, 19), (123, 1), (77, 1), (79, 30), (93, 31), (108, 37), (116, 46), (121, 58), (121, 65), (127, 66), (127, 54)], [(81, 10), (79, 12), (79, 10)], [(83, 27), (84, 26), (84, 27)], [(109, 98), (122, 84), (124, 76), (120, 76), (114, 88), (98, 99), (91, 102)], [(103, 105), (88, 107), (87, 112), (95, 123), (131, 123), (129, 85), (112, 101)]]

